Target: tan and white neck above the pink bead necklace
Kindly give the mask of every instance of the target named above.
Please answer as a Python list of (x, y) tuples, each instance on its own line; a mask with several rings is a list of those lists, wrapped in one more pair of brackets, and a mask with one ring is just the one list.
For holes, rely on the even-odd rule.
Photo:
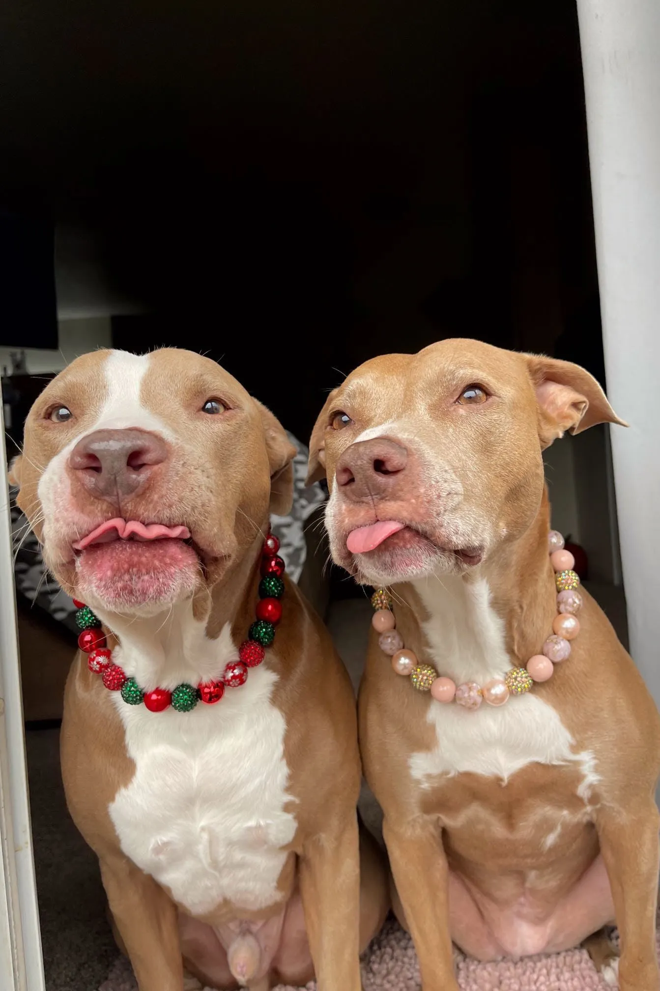
[(525, 533), (478, 569), (394, 587), (397, 629), (420, 642), (420, 662), (457, 684), (484, 684), (540, 652), (556, 615), (548, 520), (544, 498)]

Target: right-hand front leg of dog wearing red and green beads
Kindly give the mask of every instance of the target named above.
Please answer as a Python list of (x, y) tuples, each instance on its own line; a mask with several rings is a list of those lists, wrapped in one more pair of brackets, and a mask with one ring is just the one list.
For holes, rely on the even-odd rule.
[(360, 991), (360, 839), (357, 815), (305, 843), (300, 895), (318, 991)]

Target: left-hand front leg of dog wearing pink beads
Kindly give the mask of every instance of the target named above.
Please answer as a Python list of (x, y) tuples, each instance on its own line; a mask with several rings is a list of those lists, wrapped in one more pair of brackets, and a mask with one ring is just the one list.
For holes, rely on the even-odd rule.
[(383, 834), (423, 991), (458, 991), (449, 927), (449, 869), (439, 826), (423, 818), (393, 823), (385, 816)]

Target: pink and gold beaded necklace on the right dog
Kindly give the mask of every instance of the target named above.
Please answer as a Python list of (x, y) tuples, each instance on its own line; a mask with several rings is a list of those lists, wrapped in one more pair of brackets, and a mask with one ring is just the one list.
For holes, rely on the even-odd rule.
[(483, 702), (490, 706), (503, 706), (511, 695), (524, 695), (535, 682), (552, 678), (555, 664), (565, 661), (571, 653), (571, 640), (580, 632), (576, 615), (582, 606), (582, 596), (577, 591), (580, 579), (573, 566), (575, 558), (564, 550), (564, 538), (557, 530), (548, 534), (550, 561), (555, 570), (557, 585), (557, 616), (552, 624), (553, 632), (543, 644), (543, 653), (530, 657), (524, 668), (511, 668), (504, 678), (494, 678), (487, 685), (465, 682), (456, 685), (451, 678), (439, 677), (430, 664), (420, 664), (411, 650), (406, 650), (400, 633), (395, 629), (396, 620), (391, 611), (391, 599), (385, 589), (377, 589), (372, 596), (376, 609), (372, 617), (374, 629), (380, 633), (379, 644), (391, 657), (391, 666), (397, 675), (410, 679), (418, 692), (430, 692), (442, 703), (455, 702), (465, 709), (479, 709)]

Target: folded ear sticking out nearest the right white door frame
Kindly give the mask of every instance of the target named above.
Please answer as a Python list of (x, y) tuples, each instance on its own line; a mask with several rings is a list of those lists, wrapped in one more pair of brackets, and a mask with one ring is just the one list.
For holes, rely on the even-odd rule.
[(620, 420), (607, 402), (605, 392), (593, 375), (579, 365), (557, 358), (525, 355), (538, 403), (538, 433), (541, 447), (569, 430), (580, 433), (597, 423), (618, 423)]

